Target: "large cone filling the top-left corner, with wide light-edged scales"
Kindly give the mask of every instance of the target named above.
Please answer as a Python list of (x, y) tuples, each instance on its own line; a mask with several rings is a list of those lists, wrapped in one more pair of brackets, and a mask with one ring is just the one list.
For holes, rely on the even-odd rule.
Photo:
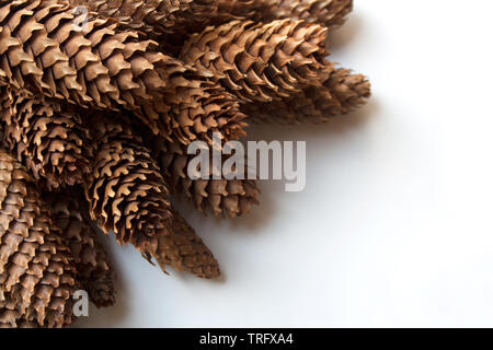
[(152, 44), (136, 33), (98, 18), (82, 23), (56, 0), (1, 1), (0, 25), (0, 67), (15, 88), (99, 108), (150, 101)]

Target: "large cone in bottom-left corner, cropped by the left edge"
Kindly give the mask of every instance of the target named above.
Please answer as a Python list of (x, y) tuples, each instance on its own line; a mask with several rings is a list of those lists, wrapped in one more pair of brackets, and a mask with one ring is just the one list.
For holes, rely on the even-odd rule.
[(74, 273), (34, 178), (0, 149), (0, 325), (71, 324)]

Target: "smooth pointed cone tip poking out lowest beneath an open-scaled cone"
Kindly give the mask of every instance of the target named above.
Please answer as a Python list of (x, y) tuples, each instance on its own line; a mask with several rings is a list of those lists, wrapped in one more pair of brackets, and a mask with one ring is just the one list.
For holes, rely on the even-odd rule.
[(163, 271), (169, 265), (179, 271), (190, 272), (200, 278), (218, 277), (219, 264), (210, 249), (176, 210), (171, 209), (171, 213), (173, 217), (171, 226), (168, 231), (157, 234), (158, 246), (151, 256), (156, 258)]

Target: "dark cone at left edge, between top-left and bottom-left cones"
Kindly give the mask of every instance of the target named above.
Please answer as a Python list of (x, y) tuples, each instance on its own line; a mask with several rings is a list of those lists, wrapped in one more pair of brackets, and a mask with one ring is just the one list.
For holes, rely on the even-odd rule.
[(48, 190), (81, 184), (93, 144), (73, 107), (0, 89), (3, 139), (18, 160)]

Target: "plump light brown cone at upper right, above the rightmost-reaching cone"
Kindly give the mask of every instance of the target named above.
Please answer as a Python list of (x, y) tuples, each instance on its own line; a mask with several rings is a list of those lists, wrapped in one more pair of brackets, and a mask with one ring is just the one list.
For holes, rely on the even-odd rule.
[(326, 33), (302, 21), (233, 21), (193, 35), (180, 57), (242, 101), (271, 102), (321, 80)]

